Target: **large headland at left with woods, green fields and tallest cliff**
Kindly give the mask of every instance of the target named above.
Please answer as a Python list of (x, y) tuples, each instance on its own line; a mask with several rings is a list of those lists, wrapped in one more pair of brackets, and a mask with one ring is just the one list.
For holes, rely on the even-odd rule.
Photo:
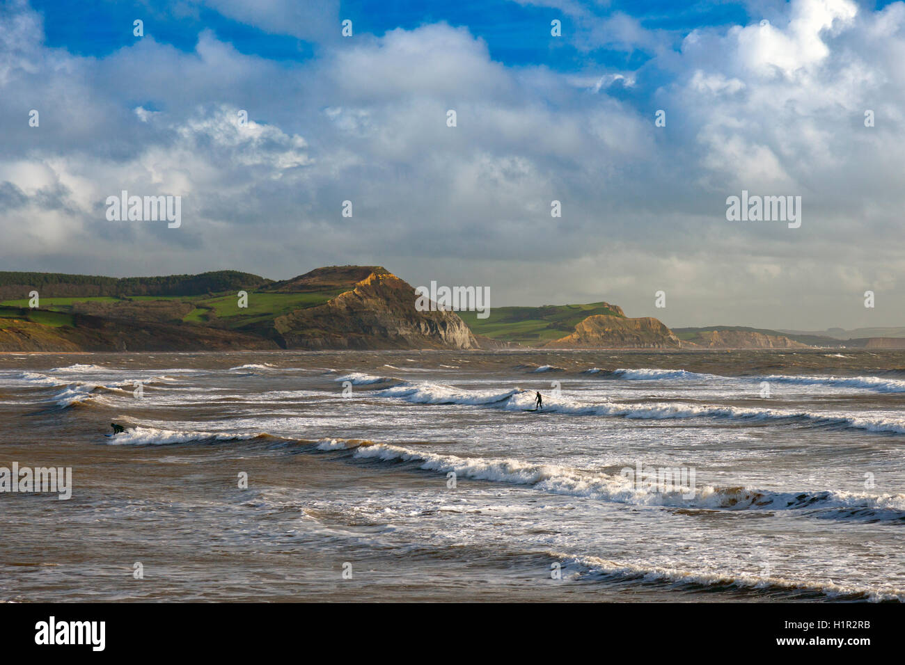
[(0, 350), (478, 346), (454, 312), (416, 311), (414, 288), (379, 266), (329, 266), (283, 281), (239, 271), (126, 279), (5, 272), (0, 289), (10, 296), (0, 301)]

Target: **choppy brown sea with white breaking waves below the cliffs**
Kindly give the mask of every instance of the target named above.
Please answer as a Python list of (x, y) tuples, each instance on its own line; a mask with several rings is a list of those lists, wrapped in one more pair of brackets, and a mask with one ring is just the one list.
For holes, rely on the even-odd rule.
[(0, 602), (901, 602), (903, 400), (886, 350), (7, 353)]

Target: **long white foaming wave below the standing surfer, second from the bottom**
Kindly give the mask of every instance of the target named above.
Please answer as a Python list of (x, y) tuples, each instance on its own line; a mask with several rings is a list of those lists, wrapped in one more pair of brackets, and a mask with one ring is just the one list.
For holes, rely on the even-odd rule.
[[(633, 474), (580, 470), (560, 464), (538, 464), (510, 458), (458, 457), (414, 450), (388, 443), (325, 440), (320, 450), (353, 450), (363, 459), (416, 462), (420, 469), (454, 471), (472, 480), (531, 485), (551, 494), (599, 499), (614, 503), (664, 508), (717, 510), (801, 510), (818, 518), (905, 523), (905, 495), (869, 495), (824, 490), (779, 492), (748, 487), (673, 487), (660, 491)], [(632, 469), (631, 467), (627, 467)]]

